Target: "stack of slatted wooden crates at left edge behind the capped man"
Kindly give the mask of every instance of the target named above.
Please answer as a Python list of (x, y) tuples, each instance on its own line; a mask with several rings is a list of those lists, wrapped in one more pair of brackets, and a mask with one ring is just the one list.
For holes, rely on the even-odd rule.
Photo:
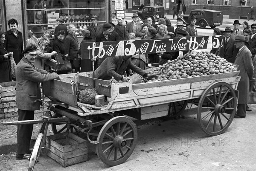
[(18, 116), (16, 81), (0, 83), (0, 119)]

